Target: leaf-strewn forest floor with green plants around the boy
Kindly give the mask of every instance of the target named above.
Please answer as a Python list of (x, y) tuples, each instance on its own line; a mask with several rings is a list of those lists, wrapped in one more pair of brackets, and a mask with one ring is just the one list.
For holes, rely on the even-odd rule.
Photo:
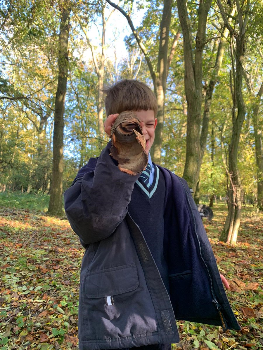
[[(0, 194), (0, 350), (77, 350), (83, 248), (66, 217), (46, 215), (48, 197)], [(263, 213), (245, 207), (235, 247), (220, 242), (227, 208), (203, 223), (229, 280), (227, 295), (241, 331), (178, 321), (174, 349), (262, 349)], [(261, 285), (261, 286), (260, 286)]]

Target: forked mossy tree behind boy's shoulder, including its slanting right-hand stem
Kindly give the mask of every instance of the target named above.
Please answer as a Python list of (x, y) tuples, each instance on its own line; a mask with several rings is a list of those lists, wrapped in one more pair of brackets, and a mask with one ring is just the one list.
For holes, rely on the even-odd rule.
[[(211, 7), (211, 0), (200, 1), (197, 9), (197, 31), (195, 49), (193, 50), (193, 25), (188, 15), (188, 6), (185, 0), (177, 0), (178, 14), (183, 32), (184, 47), (184, 86), (187, 99), (187, 139), (186, 139), (186, 161), (183, 177), (189, 186), (196, 190), (200, 168), (205, 152), (208, 125), (210, 118), (210, 105), (213, 91), (218, 82), (218, 73), (222, 65), (222, 59), (229, 34), (229, 28), (223, 26), (218, 28), (220, 42), (217, 48), (216, 61), (209, 82), (205, 83), (204, 111), (203, 103), (203, 50), (206, 43), (207, 16)], [(234, 14), (234, 12), (232, 12)], [(194, 18), (193, 23), (195, 23)], [(193, 53), (194, 52), (194, 53)]]

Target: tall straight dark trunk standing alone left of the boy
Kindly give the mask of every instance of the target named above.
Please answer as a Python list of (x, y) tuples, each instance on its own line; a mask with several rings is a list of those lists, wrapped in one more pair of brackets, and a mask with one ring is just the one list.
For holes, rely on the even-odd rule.
[(48, 214), (61, 215), (62, 211), (62, 175), (63, 175), (63, 135), (64, 135), (64, 110), (67, 90), (68, 76), (68, 37), (70, 8), (67, 3), (62, 2), (60, 33), (59, 33), (59, 55), (58, 55), (58, 87), (55, 97), (54, 133), (53, 133), (53, 163), (52, 184)]

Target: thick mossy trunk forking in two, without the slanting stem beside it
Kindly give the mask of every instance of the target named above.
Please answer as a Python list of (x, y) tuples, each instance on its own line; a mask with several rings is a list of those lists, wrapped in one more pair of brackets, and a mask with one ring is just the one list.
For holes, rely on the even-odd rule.
[(200, 159), (200, 127), (202, 107), (202, 61), (205, 44), (205, 31), (207, 15), (211, 0), (200, 1), (198, 13), (198, 29), (196, 35), (195, 59), (193, 57), (192, 28), (188, 16), (185, 0), (177, 0), (178, 15), (183, 31), (184, 50), (184, 86), (187, 99), (187, 136), (186, 136), (186, 162), (183, 178), (188, 185), (196, 190), (199, 178), (198, 159)]

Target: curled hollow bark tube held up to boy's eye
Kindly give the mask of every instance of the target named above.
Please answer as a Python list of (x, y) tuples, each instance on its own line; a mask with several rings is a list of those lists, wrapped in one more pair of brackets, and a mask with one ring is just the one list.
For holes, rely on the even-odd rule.
[(134, 112), (119, 114), (112, 126), (111, 138), (110, 155), (117, 160), (119, 169), (130, 175), (141, 173), (148, 163), (148, 154), (140, 119)]

